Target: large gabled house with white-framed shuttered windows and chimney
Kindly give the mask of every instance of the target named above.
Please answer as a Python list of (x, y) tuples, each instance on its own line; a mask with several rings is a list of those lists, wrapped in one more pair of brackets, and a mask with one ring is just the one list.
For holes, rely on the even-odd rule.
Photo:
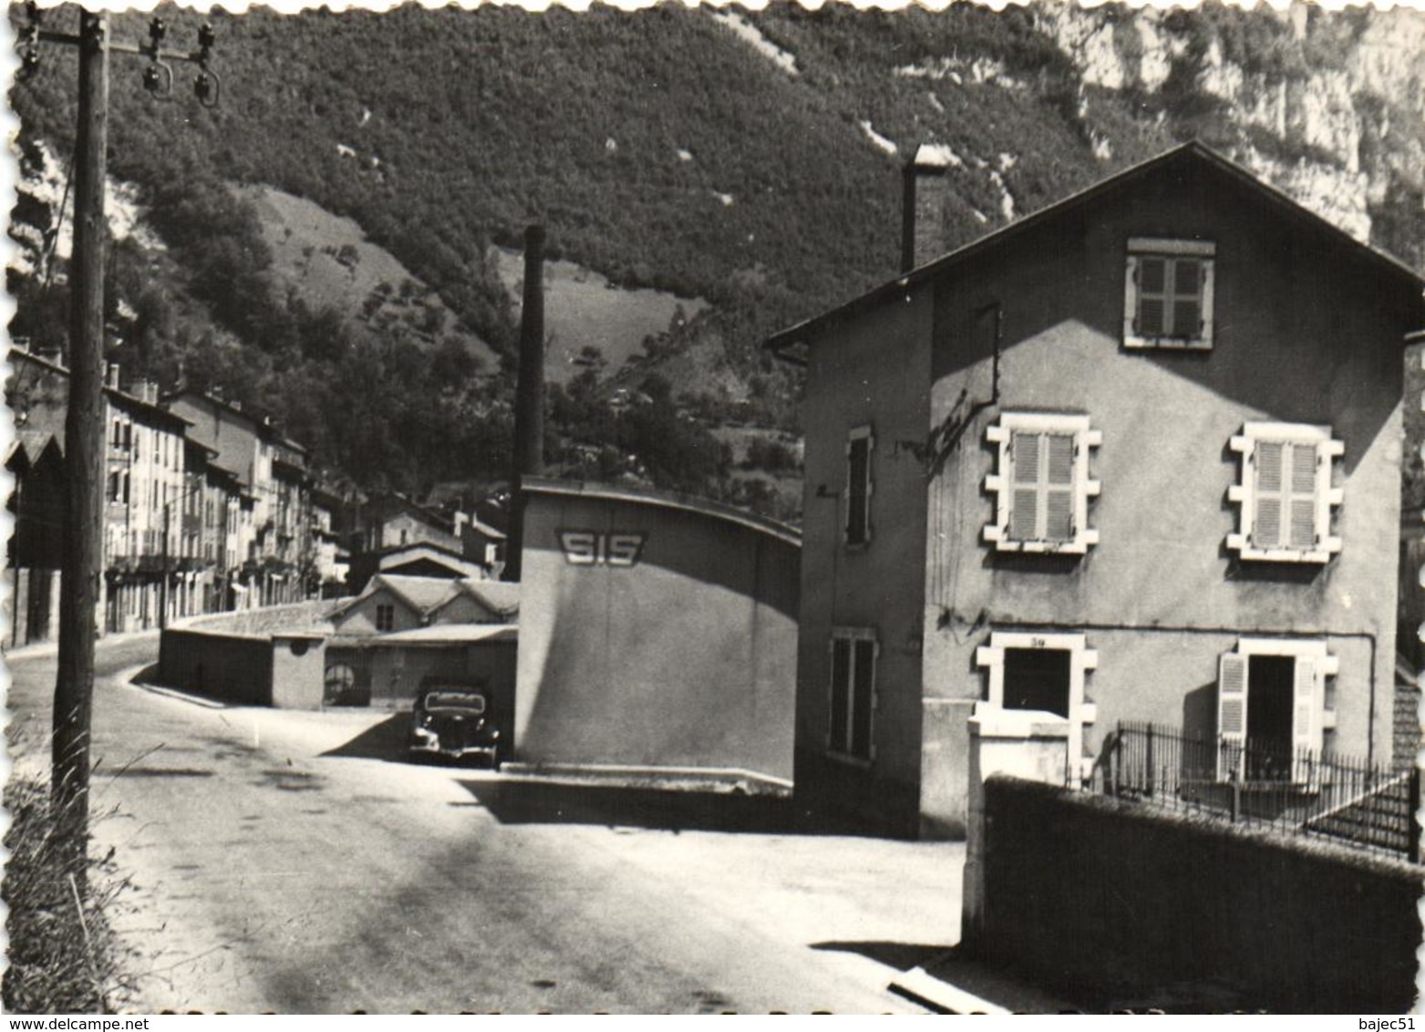
[(1120, 720), (1389, 761), (1421, 277), (1196, 143), (928, 254), (955, 174), (909, 170), (901, 277), (768, 341), (798, 810), (963, 834), (972, 720), (1069, 783)]

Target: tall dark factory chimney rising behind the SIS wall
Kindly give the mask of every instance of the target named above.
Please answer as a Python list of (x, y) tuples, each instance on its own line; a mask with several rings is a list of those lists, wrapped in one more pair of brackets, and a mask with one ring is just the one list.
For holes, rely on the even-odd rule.
[(544, 468), (544, 227), (524, 229), (524, 302), (520, 309), (520, 378), (514, 388), (514, 453), (510, 456), (510, 527), (504, 580), (519, 580), (524, 549), (520, 480)]

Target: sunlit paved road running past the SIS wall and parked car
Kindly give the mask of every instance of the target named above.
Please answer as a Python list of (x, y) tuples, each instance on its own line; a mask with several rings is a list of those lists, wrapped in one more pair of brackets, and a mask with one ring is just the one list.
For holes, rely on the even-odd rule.
[[(211, 708), (103, 643), (100, 848), (138, 888), (135, 1009), (876, 1012), (958, 936), (963, 850), (768, 831), (755, 800), (392, 763), (399, 723)], [(11, 657), (48, 726), (53, 657)], [(21, 738), (24, 731), (20, 731)]]

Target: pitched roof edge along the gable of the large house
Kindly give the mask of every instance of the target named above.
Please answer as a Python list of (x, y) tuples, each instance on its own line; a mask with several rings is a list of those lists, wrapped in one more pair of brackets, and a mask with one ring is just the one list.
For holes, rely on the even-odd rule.
[(1104, 194), (1110, 194), (1127, 185), (1129, 182), (1134, 182), (1153, 172), (1161, 171), (1168, 165), (1174, 165), (1183, 161), (1203, 162), (1228, 175), (1230, 178), (1260, 192), (1263, 200), (1273, 204), (1280, 212), (1297, 218), (1300, 221), (1304, 221), (1308, 225), (1320, 229), (1327, 237), (1334, 239), (1335, 244), (1348, 248), (1352, 254), (1375, 264), (1382, 272), (1389, 274), (1399, 279), (1406, 279), (1416, 288), (1425, 288), (1425, 279), (1421, 278), (1421, 274), (1412, 269), (1405, 262), (1402, 262), (1399, 258), (1395, 258), (1394, 255), (1389, 255), (1385, 251), (1379, 251), (1371, 247), (1369, 244), (1362, 244), (1361, 241), (1358, 241), (1355, 237), (1345, 232), (1340, 227), (1321, 218), (1314, 211), (1302, 207), (1277, 187), (1273, 187), (1270, 182), (1264, 182), (1263, 180), (1257, 178), (1250, 170), (1237, 164), (1231, 158), (1218, 154), (1207, 144), (1203, 144), (1197, 140), (1190, 140), (1186, 144), (1181, 144), (1168, 151), (1164, 151), (1163, 154), (1159, 154), (1156, 158), (1149, 158), (1147, 161), (1141, 161), (1136, 165), (1131, 165), (1130, 168), (1126, 168), (1121, 172), (1110, 175), (1106, 180), (1100, 180), (1087, 190), (1082, 190), (1077, 194), (1072, 194), (1063, 201), (1052, 204), (1047, 208), (1040, 208), (1039, 211), (1026, 215), (1025, 218), (1020, 218), (1016, 222), (1010, 222), (1009, 225), (996, 229), (995, 232), (979, 237), (978, 239), (970, 241), (965, 247), (950, 251), (949, 254), (942, 255), (940, 258), (936, 258), (931, 262), (926, 262), (919, 268), (911, 269), (909, 272), (905, 272), (896, 277), (895, 279), (891, 279), (882, 284), (881, 287), (876, 287), (868, 291), (866, 294), (862, 294), (861, 296), (852, 298), (851, 301), (836, 308), (832, 308), (831, 311), (822, 312), (821, 315), (812, 316), (809, 319), (804, 319), (794, 326), (788, 326), (787, 329), (779, 331), (772, 336), (767, 338), (762, 346), (771, 352), (775, 352), (779, 358), (787, 358), (788, 361), (797, 361), (792, 359), (792, 356), (785, 355), (784, 354), (785, 349), (797, 344), (805, 344), (808, 338), (821, 334), (822, 331), (828, 329), (829, 326), (844, 319), (848, 319), (854, 315), (859, 315), (861, 312), (869, 308), (876, 308), (881, 304), (891, 301), (893, 298), (901, 298), (905, 295), (906, 289), (916, 287), (925, 282), (926, 279), (932, 279), (936, 275), (946, 272), (950, 268), (955, 268), (956, 265), (970, 258), (976, 258), (982, 255), (985, 251), (1000, 247), (1007, 241), (1016, 239), (1020, 235), (1029, 232), (1033, 228), (1037, 228), (1045, 222), (1049, 222), (1054, 218), (1064, 215), (1069, 211), (1083, 207), (1089, 201), (1103, 197)]

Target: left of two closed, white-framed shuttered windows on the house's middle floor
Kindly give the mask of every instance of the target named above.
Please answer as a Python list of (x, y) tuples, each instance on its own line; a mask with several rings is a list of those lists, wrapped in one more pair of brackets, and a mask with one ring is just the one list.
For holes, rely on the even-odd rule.
[(1089, 416), (1006, 412), (986, 430), (999, 445), (999, 469), (985, 489), (996, 496), (985, 540), (1000, 552), (1082, 554), (1099, 543), (1089, 527), (1089, 449), (1103, 440)]

